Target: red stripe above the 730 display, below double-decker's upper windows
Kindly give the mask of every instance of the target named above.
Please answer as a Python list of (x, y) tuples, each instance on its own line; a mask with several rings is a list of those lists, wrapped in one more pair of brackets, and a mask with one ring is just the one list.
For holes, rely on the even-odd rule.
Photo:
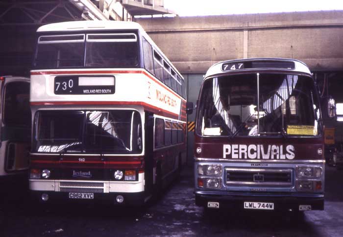
[(178, 94), (176, 94), (172, 89), (170, 89), (168, 86), (166, 86), (163, 82), (161, 82), (160, 80), (154, 78), (153, 76), (150, 76), (147, 72), (139, 70), (139, 71), (125, 71), (125, 70), (104, 70), (104, 71), (41, 71), (41, 72), (31, 72), (31, 75), (60, 75), (60, 74), (115, 74), (115, 73), (135, 73), (135, 74), (144, 74), (146, 75), (148, 78), (154, 80), (155, 82), (159, 83), (162, 87), (164, 87), (165, 89), (167, 89), (169, 92), (171, 92), (172, 94), (174, 94), (176, 97), (178, 97), (179, 99), (186, 101), (185, 99), (183, 99), (181, 96), (179, 96)]

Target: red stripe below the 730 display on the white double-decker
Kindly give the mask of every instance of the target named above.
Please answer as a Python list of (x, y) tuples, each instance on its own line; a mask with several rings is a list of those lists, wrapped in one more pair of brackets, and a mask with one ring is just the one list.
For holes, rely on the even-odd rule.
[(168, 110), (149, 105), (145, 102), (130, 102), (130, 101), (49, 101), (49, 102), (31, 102), (31, 105), (142, 105), (150, 107), (157, 111), (163, 111), (173, 116), (178, 116), (179, 114), (170, 112)]

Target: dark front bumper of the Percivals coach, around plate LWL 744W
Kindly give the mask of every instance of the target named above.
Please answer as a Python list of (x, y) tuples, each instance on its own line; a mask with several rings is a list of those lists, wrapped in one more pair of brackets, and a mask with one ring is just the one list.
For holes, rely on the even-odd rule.
[[(251, 210), (248, 203), (272, 203), (273, 209), (263, 211), (324, 210), (324, 195), (237, 195), (227, 193), (196, 193), (196, 205), (211, 209)], [(254, 205), (257, 207), (256, 205)], [(257, 210), (257, 209), (256, 209)]]

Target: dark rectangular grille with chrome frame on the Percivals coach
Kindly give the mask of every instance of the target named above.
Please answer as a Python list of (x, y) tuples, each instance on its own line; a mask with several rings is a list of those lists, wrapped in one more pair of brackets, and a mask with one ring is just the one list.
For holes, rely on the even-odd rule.
[(226, 168), (226, 184), (252, 186), (292, 186), (292, 169)]

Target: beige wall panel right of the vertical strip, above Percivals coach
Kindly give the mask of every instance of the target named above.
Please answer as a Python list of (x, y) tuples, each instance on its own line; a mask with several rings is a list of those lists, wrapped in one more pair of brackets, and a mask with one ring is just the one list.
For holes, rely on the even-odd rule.
[(312, 71), (342, 70), (343, 28), (308, 27), (250, 30), (248, 57), (288, 57)]

